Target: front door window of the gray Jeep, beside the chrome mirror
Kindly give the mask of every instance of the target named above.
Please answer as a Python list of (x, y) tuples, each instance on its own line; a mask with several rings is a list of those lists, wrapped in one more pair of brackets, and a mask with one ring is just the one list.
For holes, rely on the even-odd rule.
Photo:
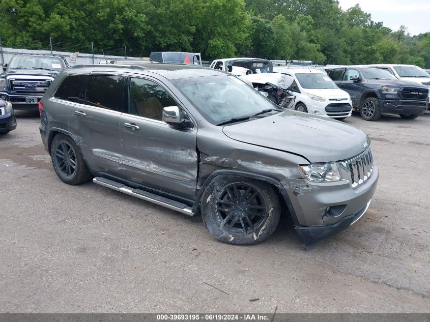
[(141, 78), (130, 79), (129, 114), (161, 121), (163, 107), (177, 105), (173, 97), (157, 83)]

